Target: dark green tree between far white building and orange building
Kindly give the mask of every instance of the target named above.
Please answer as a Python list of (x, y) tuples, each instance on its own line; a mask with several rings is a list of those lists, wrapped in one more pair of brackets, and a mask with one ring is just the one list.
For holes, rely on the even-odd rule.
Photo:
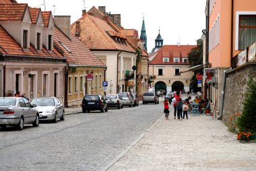
[[(189, 57), (189, 63), (191, 67), (203, 64), (203, 40), (198, 39), (197, 46), (192, 48), (187, 55)], [(197, 78), (195, 77), (197, 73), (203, 75), (203, 68), (195, 70), (194, 75), (190, 80), (192, 82), (191, 85), (194, 91), (198, 91)]]

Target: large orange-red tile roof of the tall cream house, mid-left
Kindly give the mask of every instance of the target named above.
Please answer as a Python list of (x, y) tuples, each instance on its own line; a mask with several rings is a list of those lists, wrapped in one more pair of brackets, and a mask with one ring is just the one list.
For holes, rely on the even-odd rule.
[[(86, 14), (77, 21), (80, 22), (81, 26), (79, 39), (85, 42), (91, 50), (124, 50), (135, 53), (129, 44), (115, 42), (111, 38), (111, 36), (125, 38), (125, 35), (110, 20), (101, 20)], [(71, 25), (71, 32), (75, 34), (75, 23)]]

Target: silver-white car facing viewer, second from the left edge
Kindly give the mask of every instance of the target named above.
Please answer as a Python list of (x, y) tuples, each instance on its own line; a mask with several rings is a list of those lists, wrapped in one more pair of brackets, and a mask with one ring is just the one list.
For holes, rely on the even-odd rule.
[(63, 104), (55, 97), (34, 98), (31, 104), (36, 104), (39, 111), (40, 121), (53, 121), (57, 123), (58, 118), (65, 120), (65, 110)]

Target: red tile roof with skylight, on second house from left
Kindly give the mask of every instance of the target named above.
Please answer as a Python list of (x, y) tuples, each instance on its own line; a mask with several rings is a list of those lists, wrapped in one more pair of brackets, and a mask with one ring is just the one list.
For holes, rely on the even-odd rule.
[[(105, 65), (92, 53), (86, 45), (81, 42), (75, 35), (71, 34), (67, 38), (57, 26), (55, 26), (55, 43), (63, 50), (69, 65), (100, 66)], [(66, 48), (65, 48), (66, 47)]]

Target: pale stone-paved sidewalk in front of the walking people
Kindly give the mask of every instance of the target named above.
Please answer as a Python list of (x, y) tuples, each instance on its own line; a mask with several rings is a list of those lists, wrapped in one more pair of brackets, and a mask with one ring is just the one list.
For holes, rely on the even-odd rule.
[[(173, 108), (173, 107), (172, 107)], [(222, 121), (163, 116), (108, 171), (256, 170), (256, 143), (241, 143)]]

